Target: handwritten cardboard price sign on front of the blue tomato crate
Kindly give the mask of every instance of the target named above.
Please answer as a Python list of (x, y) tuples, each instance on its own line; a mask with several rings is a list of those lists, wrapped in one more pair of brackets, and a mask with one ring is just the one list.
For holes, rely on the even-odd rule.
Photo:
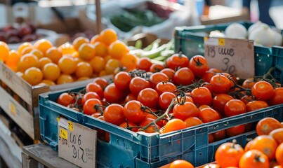
[(96, 130), (73, 123), (65, 118), (58, 119), (59, 157), (79, 167), (96, 167)]

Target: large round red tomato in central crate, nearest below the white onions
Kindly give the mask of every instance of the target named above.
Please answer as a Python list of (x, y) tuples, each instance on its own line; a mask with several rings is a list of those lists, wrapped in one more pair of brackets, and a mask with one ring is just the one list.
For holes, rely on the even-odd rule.
[(266, 81), (258, 81), (251, 87), (251, 94), (258, 100), (268, 101), (274, 94), (272, 85)]

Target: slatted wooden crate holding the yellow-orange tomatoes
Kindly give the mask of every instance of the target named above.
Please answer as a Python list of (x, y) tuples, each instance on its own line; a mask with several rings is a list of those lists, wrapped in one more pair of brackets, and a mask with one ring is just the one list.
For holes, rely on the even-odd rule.
[(33, 140), (41, 139), (39, 130), (38, 96), (44, 92), (84, 86), (93, 79), (55, 85), (32, 86), (0, 62), (0, 107)]

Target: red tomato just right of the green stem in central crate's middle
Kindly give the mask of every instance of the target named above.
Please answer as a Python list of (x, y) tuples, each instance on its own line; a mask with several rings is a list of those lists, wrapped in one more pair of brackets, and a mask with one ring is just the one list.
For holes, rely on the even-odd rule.
[(203, 104), (211, 105), (212, 102), (212, 96), (211, 92), (206, 87), (197, 87), (190, 93), (192, 96), (192, 99), (194, 99), (194, 102), (197, 106), (201, 106)]

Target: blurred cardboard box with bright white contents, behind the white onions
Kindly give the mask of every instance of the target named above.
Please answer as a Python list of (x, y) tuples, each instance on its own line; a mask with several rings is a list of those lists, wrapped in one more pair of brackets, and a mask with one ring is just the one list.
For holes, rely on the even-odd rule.
[(239, 8), (228, 6), (210, 6), (209, 15), (202, 15), (200, 18), (202, 25), (213, 25), (225, 22), (237, 22), (249, 20), (249, 13)]

